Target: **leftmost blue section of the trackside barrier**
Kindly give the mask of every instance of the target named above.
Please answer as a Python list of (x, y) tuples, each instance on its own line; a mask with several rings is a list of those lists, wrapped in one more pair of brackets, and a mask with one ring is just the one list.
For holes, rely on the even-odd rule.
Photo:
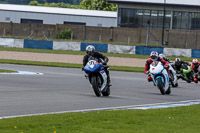
[(53, 49), (53, 41), (24, 39), (24, 48)]

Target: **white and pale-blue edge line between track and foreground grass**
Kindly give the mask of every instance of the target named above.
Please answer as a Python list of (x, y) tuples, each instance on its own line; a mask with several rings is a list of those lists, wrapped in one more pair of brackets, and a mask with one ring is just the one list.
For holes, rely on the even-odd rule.
[(120, 110), (120, 109), (158, 109), (158, 108), (169, 108), (169, 107), (180, 107), (200, 104), (199, 100), (187, 100), (180, 102), (168, 102), (168, 103), (155, 103), (155, 104), (144, 104), (144, 105), (130, 105), (130, 106), (119, 106), (119, 107), (107, 107), (107, 108), (95, 108), (95, 109), (83, 109), (83, 110), (70, 110), (60, 112), (48, 112), (48, 113), (37, 113), (37, 114), (25, 114), (25, 115), (14, 115), (14, 116), (2, 116), (0, 119), (26, 117), (35, 115), (48, 115), (48, 114), (61, 114), (61, 113), (72, 113), (72, 112), (90, 112), (90, 111), (102, 111), (102, 110)]

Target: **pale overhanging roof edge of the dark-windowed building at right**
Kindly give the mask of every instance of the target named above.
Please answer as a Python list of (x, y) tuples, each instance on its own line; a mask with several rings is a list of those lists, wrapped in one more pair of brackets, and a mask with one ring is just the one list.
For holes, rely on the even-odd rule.
[(115, 3), (139, 3), (139, 4), (164, 4), (177, 6), (200, 6), (200, 0), (108, 0)]

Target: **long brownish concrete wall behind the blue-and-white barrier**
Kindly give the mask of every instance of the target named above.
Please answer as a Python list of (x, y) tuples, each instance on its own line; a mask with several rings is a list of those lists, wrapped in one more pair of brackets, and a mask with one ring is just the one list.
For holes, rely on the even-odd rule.
[[(122, 27), (88, 27), (75, 25), (43, 25), (43, 24), (16, 24), (0, 23), (0, 35), (14, 35), (40, 38), (56, 38), (56, 34), (66, 28), (71, 29), (73, 39), (145, 43), (146, 28)], [(200, 49), (200, 31), (193, 30), (168, 30), (165, 31), (164, 41), (170, 48)], [(150, 29), (149, 43), (161, 45), (162, 30)]]

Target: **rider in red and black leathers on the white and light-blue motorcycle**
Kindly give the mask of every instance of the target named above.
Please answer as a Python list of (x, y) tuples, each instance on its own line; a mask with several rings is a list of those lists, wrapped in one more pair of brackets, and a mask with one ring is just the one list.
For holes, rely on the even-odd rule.
[(167, 72), (169, 73), (169, 63), (167, 61), (165, 61), (164, 59), (160, 58), (158, 56), (158, 52), (156, 51), (152, 51), (150, 53), (150, 57), (147, 59), (146, 63), (145, 63), (145, 69), (144, 69), (144, 73), (145, 74), (148, 74), (148, 77), (147, 77), (147, 80), (150, 82), (152, 81), (152, 77), (149, 75), (149, 68), (150, 68), (150, 64), (153, 62), (153, 61), (160, 61), (164, 68), (166, 68)]

